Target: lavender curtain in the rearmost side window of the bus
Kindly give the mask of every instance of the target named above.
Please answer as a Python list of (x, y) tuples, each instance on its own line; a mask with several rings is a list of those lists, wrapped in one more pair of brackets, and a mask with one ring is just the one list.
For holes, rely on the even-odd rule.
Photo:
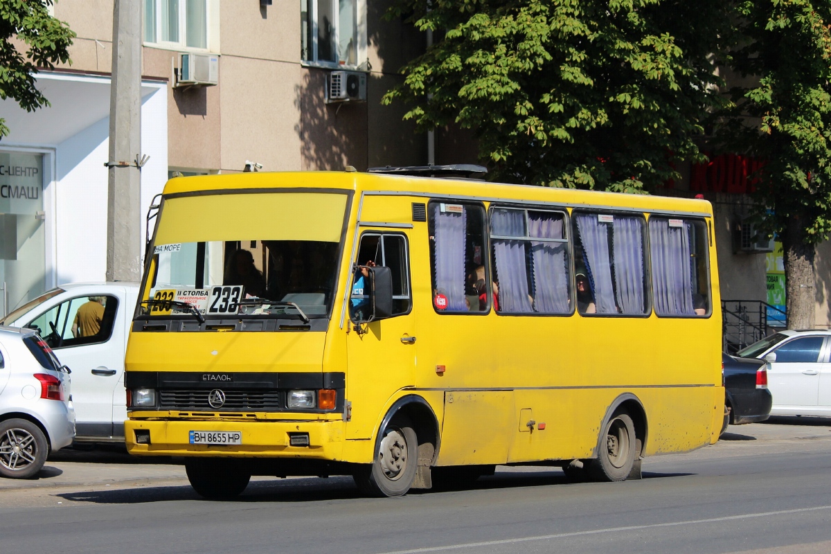
[(670, 227), (666, 219), (649, 220), (655, 312), (659, 316), (693, 316), (690, 271), (691, 225)]

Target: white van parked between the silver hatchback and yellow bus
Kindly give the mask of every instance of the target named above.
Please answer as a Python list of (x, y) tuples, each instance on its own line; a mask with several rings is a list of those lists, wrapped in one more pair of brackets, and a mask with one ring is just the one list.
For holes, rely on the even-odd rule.
[[(72, 370), (77, 441), (124, 441), (124, 353), (138, 291), (131, 282), (61, 285), (0, 321), (37, 331)], [(85, 332), (90, 312), (97, 321)]]

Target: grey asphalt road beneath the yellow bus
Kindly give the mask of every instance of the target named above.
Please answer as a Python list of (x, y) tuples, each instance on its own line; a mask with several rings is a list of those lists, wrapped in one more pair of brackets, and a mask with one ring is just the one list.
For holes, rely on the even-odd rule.
[(474, 488), (361, 498), (350, 478), (257, 478), (200, 500), (181, 466), (57, 453), (0, 482), (0, 552), (831, 552), (831, 419), (730, 427), (641, 481), (499, 468)]

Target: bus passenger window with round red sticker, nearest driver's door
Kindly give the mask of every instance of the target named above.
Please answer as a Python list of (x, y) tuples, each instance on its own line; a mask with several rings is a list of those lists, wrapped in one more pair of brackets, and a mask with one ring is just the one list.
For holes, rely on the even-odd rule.
[(442, 314), (487, 312), (491, 279), (484, 253), (484, 208), (430, 202), (427, 213), (435, 310)]

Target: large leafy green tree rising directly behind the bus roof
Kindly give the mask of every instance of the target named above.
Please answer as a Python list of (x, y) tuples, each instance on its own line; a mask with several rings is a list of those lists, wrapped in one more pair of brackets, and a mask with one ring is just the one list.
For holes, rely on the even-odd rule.
[(439, 38), (383, 102), (419, 130), (470, 129), (492, 179), (645, 192), (701, 160), (720, 105), (720, 0), (399, 0)]

